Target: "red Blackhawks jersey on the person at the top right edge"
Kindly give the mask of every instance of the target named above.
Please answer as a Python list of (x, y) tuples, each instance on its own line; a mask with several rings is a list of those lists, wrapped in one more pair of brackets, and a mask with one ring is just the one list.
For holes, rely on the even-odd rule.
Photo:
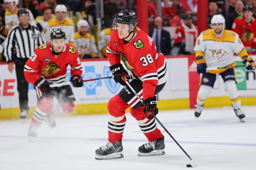
[(238, 16), (232, 24), (232, 31), (239, 35), (244, 47), (256, 47), (256, 20), (254, 17), (250, 23), (247, 23), (244, 17)]

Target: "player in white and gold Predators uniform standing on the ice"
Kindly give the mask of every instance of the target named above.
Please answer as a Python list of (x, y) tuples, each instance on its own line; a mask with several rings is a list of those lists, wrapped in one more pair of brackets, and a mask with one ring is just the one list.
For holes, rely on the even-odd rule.
[[(197, 57), (197, 72), (199, 74), (202, 73), (200, 88), (197, 94), (195, 116), (200, 116), (204, 101), (213, 89), (216, 74), (219, 74), (224, 80), (225, 89), (228, 92), (235, 114), (239, 117), (241, 122), (244, 122), (245, 115), (240, 109), (241, 100), (236, 87), (236, 62), (233, 55), (236, 53), (242, 58), (247, 70), (254, 70), (255, 63), (252, 58), (248, 56), (237, 33), (224, 30), (225, 19), (222, 15), (214, 15), (211, 19), (211, 26), (212, 29), (204, 30), (199, 37), (197, 37), (194, 47)], [(207, 67), (217, 67), (221, 69), (206, 72)]]

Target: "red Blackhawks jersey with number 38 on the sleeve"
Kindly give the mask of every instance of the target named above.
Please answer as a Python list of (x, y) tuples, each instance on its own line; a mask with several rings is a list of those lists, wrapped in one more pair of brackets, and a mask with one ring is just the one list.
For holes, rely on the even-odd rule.
[(118, 36), (116, 27), (111, 31), (110, 41), (107, 46), (106, 56), (111, 65), (122, 60), (133, 79), (140, 79), (143, 84), (143, 99), (152, 98), (156, 85), (164, 84), (168, 73), (166, 58), (157, 53), (154, 40), (143, 30), (137, 27), (129, 42)]

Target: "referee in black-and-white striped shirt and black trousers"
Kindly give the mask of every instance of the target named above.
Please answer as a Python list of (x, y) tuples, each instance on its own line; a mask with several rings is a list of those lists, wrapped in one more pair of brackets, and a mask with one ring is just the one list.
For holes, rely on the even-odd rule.
[(35, 26), (31, 26), (29, 12), (26, 8), (18, 11), (19, 25), (14, 26), (8, 33), (5, 41), (5, 57), (9, 72), (15, 71), (17, 76), (17, 90), (19, 92), (20, 119), (25, 119), (28, 114), (28, 82), (24, 77), (24, 65), (35, 49), (45, 40)]

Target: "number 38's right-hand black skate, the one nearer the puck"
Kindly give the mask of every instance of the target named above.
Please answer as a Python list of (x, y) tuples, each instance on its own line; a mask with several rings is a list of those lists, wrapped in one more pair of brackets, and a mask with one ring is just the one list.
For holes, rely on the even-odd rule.
[(164, 148), (164, 136), (162, 136), (161, 138), (156, 139), (153, 142), (148, 142), (140, 146), (138, 156), (164, 155)]

